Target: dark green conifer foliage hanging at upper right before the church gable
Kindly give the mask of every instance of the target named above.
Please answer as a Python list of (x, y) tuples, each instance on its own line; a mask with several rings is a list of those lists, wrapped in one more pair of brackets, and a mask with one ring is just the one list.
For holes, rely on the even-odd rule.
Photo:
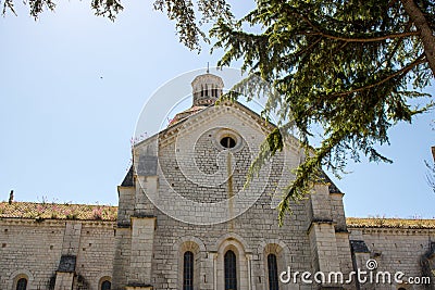
[[(422, 92), (433, 79), (431, 43), (403, 2), (409, 1), (259, 0), (240, 21), (221, 18), (211, 30), (215, 47), (226, 52), (219, 65), (241, 59), (245, 71), (278, 92), (265, 113), (287, 114), (268, 137), (271, 147), (263, 148), (273, 149), (271, 155), (281, 150), (285, 142), (276, 141), (277, 133), (290, 122), (307, 151), (279, 204), (279, 222), (290, 201), (309, 194), (321, 179), (321, 167), (339, 175), (349, 157), (391, 162), (377, 150), (388, 143), (388, 129), (433, 106)], [(435, 3), (412, 3), (433, 37)], [(247, 26), (261, 28), (254, 34)], [(413, 106), (418, 98), (425, 105)], [(311, 148), (314, 127), (322, 128), (323, 140)]]

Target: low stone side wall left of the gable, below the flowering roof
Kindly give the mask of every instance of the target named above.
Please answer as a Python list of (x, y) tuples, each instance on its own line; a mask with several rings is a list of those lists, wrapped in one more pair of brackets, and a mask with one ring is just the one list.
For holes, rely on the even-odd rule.
[[(77, 224), (78, 237), (69, 242), (67, 224)], [(114, 223), (100, 220), (46, 219), (36, 222), (24, 218), (0, 219), (0, 289), (13, 290), (20, 275), (28, 278), (27, 290), (49, 289), (62, 254), (76, 252), (76, 275), (87, 290), (97, 290), (102, 277), (112, 275), (114, 253)], [(77, 241), (78, 249), (69, 244)], [(75, 248), (75, 247), (74, 247)], [(78, 288), (75, 276), (74, 290)]]

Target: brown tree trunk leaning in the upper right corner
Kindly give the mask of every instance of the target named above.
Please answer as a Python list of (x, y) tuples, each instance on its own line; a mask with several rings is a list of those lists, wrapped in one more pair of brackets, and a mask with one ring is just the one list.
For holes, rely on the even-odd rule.
[(420, 33), (428, 66), (435, 77), (435, 37), (433, 31), (414, 0), (401, 0), (401, 3), (403, 4), (405, 11), (409, 15), (410, 20), (415, 24), (417, 30)]

